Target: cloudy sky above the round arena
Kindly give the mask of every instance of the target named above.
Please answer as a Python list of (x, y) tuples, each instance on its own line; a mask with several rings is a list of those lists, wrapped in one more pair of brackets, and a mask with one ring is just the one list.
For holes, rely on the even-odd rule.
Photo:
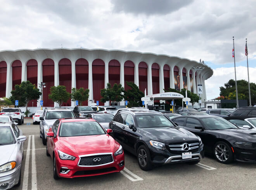
[(213, 68), (207, 98), (237, 78), (256, 82), (255, 0), (0, 0), (0, 51), (103, 48), (152, 52)]

